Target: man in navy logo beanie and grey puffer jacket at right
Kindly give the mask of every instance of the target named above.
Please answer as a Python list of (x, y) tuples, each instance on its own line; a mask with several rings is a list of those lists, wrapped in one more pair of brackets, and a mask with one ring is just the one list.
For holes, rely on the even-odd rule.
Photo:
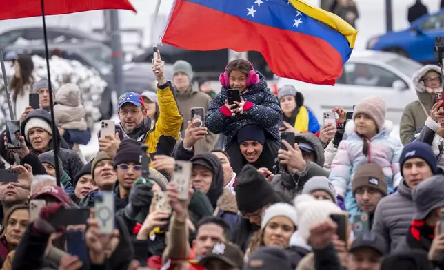
[(416, 185), (437, 172), (436, 157), (427, 143), (414, 142), (405, 145), (399, 158), (403, 180), (398, 191), (382, 198), (376, 207), (372, 231), (383, 236), (390, 251), (405, 236), (415, 208), (412, 190)]

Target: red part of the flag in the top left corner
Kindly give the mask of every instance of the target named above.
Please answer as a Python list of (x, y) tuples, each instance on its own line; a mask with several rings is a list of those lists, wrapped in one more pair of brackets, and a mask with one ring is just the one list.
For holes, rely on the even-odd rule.
[[(89, 10), (132, 10), (128, 0), (44, 0), (46, 15), (69, 14)], [(1, 1), (0, 20), (41, 16), (40, 0)]]

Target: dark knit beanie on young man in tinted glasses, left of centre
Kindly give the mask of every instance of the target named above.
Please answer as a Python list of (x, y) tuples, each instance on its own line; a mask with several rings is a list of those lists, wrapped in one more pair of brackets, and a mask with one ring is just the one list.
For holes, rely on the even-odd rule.
[(122, 163), (136, 163), (141, 164), (142, 149), (141, 143), (133, 140), (132, 138), (124, 138), (117, 149), (116, 156), (114, 156), (114, 162), (112, 166), (114, 169), (117, 165)]

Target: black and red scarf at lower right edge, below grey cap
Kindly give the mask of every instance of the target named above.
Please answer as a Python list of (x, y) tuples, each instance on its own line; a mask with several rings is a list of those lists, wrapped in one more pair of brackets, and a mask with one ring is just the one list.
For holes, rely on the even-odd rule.
[(412, 249), (428, 251), (434, 239), (434, 227), (425, 224), (424, 220), (412, 220), (407, 232), (407, 245)]

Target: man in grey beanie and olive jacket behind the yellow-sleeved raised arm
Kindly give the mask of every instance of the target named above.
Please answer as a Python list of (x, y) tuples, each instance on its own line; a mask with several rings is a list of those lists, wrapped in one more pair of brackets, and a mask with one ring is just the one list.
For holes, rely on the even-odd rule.
[[(186, 61), (176, 61), (173, 66), (173, 85), (177, 90), (177, 103), (179, 109), (183, 115), (183, 132), (181, 132), (182, 138), (184, 136), (185, 127), (188, 125), (188, 121), (192, 121), (191, 108), (203, 107), (204, 114), (207, 114), (208, 105), (211, 98), (208, 94), (200, 92), (192, 85), (192, 79), (194, 76), (192, 66)], [(203, 152), (210, 151), (217, 141), (217, 135), (208, 132), (204, 140), (199, 140), (194, 145), (194, 153), (201, 154)]]

